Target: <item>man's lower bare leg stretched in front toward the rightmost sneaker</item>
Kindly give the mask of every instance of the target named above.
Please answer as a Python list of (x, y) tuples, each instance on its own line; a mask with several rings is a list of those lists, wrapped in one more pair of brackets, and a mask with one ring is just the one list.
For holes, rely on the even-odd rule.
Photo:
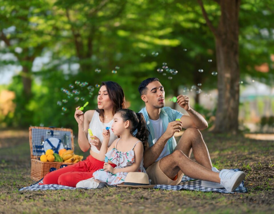
[(194, 179), (220, 183), (219, 173), (188, 158), (181, 150), (175, 150), (172, 154), (162, 158), (159, 163), (160, 169), (173, 179), (179, 170)]

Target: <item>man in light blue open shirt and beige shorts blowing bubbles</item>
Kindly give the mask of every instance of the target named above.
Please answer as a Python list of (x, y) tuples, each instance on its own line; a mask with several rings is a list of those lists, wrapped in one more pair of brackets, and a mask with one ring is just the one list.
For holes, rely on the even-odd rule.
[[(207, 128), (206, 120), (190, 107), (189, 98), (177, 97), (177, 103), (189, 116), (165, 106), (164, 87), (158, 78), (148, 78), (138, 88), (146, 107), (140, 111), (150, 131), (144, 148), (144, 167), (152, 184), (177, 185), (184, 174), (200, 179), (203, 186), (234, 191), (245, 178), (242, 171), (212, 167), (206, 144), (199, 130)], [(180, 119), (180, 121), (176, 121)], [(186, 129), (176, 145), (175, 132)], [(192, 161), (190, 155), (193, 151)]]

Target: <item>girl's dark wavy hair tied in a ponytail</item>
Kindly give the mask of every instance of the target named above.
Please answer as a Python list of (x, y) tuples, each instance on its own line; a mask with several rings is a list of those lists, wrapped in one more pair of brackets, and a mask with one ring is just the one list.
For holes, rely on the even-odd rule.
[(121, 109), (118, 110), (116, 113), (120, 113), (123, 121), (129, 120), (132, 124), (130, 129), (130, 134), (133, 135), (134, 131), (137, 129), (137, 133), (134, 137), (138, 138), (140, 141), (143, 142), (143, 145), (146, 144), (148, 141), (149, 131), (146, 128), (146, 120), (142, 113), (135, 113), (130, 109)]

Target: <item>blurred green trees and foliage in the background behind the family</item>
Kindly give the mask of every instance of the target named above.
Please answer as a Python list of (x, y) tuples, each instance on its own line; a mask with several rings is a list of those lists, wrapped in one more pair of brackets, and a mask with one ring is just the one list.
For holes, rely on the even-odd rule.
[[(217, 26), (219, 1), (203, 3)], [(242, 130), (273, 131), (273, 11), (270, 0), (240, 4)], [(178, 73), (157, 72), (163, 62)], [(160, 79), (167, 106), (180, 110), (168, 99), (186, 94), (212, 126), (218, 98), (218, 75), (212, 72), (218, 72), (214, 37), (197, 1), (0, 0), (1, 128), (41, 125), (75, 132), (75, 108), (89, 101), (85, 110), (96, 109), (95, 84), (108, 80), (118, 82), (128, 108), (139, 111), (144, 104), (138, 85), (148, 77)], [(81, 87), (75, 81), (88, 85)]]

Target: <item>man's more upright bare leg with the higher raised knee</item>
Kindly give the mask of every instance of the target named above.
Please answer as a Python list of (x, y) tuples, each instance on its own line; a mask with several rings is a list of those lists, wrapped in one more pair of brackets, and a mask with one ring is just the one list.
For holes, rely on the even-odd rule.
[(190, 158), (191, 152), (195, 160), (207, 169), (212, 168), (209, 152), (202, 137), (201, 132), (197, 128), (188, 128), (180, 138), (175, 150), (181, 150)]

